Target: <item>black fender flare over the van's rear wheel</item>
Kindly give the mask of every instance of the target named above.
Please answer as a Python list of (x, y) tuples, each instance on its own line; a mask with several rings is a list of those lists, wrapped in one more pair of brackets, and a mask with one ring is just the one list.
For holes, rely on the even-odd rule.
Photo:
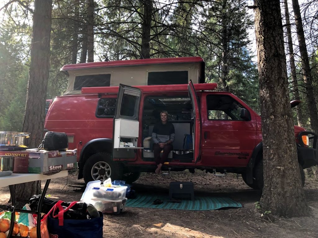
[(113, 139), (110, 138), (97, 138), (88, 141), (83, 148), (81, 149), (80, 155), (79, 155), (79, 175), (78, 179), (83, 178), (83, 167), (86, 162), (86, 160), (93, 154), (99, 153), (99, 152), (107, 152), (112, 154), (112, 145), (113, 145)]

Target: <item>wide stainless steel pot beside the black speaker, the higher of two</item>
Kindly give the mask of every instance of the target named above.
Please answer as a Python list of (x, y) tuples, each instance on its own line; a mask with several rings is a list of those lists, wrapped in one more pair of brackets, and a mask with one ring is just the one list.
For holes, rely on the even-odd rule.
[(20, 146), (27, 148), (29, 138), (29, 133), (0, 131), (0, 146)]

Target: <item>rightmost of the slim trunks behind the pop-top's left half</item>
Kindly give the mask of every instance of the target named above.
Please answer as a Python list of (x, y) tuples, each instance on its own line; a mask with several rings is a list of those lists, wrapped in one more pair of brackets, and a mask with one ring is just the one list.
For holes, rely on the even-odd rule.
[(94, 62), (94, 0), (87, 4), (87, 62)]

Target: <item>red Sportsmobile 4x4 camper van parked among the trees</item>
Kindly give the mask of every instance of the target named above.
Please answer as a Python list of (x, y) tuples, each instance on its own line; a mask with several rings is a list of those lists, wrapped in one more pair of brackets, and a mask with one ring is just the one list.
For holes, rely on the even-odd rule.
[[(88, 75), (87, 66), (93, 64), (85, 64), (85, 74)], [(179, 69), (182, 63), (180, 65), (170, 64), (171, 70)], [(144, 69), (145, 66), (143, 64)], [(217, 84), (201, 83), (204, 70), (194, 68), (199, 72), (193, 74), (197, 76), (195, 84), (188, 71), (184, 80), (189, 83), (135, 87), (98, 85), (76, 88), (79, 90), (76, 93), (70, 88), (67, 95), (56, 97), (52, 102), (45, 129), (65, 132), (69, 149), (78, 149), (79, 179), (84, 177), (85, 182), (89, 182), (111, 177), (130, 183), (137, 180), (141, 172), (155, 171), (151, 134), (160, 111), (167, 110), (176, 139), (162, 170), (194, 172), (201, 169), (215, 175), (239, 173), (250, 187), (262, 188), (260, 116), (235, 95), (215, 91)], [(151, 70), (148, 70), (145, 75), (149, 82)], [(73, 77), (75, 81), (76, 77)], [(147, 82), (147, 76), (144, 79)], [(317, 149), (309, 143), (316, 142), (317, 136), (298, 126), (294, 127), (294, 134), (304, 183), (303, 169), (318, 161)], [(189, 137), (192, 143), (185, 140)], [(123, 147), (123, 142), (129, 147)]]

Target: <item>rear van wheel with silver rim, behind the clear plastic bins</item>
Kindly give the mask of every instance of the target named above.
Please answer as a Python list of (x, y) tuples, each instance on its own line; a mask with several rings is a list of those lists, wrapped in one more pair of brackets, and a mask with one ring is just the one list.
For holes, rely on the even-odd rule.
[(122, 165), (112, 161), (111, 155), (100, 152), (91, 155), (84, 164), (83, 177), (85, 183), (94, 180), (120, 180), (123, 175)]

